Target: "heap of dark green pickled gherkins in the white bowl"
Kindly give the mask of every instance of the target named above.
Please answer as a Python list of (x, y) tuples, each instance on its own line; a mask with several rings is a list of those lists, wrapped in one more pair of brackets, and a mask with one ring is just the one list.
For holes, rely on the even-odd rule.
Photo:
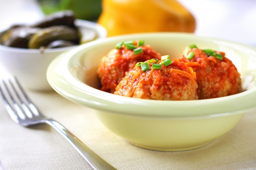
[(29, 25), (13, 25), (0, 35), (0, 44), (15, 48), (49, 49), (74, 46), (99, 37), (96, 30), (75, 24), (72, 11), (61, 11)]

